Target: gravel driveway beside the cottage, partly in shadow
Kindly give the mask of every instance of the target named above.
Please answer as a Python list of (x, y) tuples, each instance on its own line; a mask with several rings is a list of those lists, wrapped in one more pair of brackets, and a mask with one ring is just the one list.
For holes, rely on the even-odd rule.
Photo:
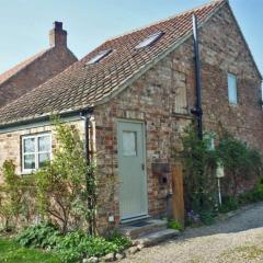
[(175, 240), (147, 248), (122, 263), (263, 263), (263, 203)]

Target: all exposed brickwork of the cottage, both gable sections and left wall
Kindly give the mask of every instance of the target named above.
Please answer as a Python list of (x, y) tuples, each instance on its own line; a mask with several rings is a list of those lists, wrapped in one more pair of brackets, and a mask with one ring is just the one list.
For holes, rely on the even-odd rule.
[[(221, 124), (263, 151), (263, 115), (258, 103), (261, 79), (227, 5), (204, 25), (199, 39), (205, 129), (217, 134)], [(238, 77), (239, 104), (236, 106), (228, 101), (228, 72)], [(182, 99), (186, 94), (187, 100), (179, 101), (178, 94)], [(119, 220), (117, 121), (135, 119), (146, 124), (148, 208), (150, 216), (159, 217), (167, 213), (170, 168), (174, 153), (182, 147), (180, 136), (192, 121), (190, 110), (194, 105), (194, 54), (193, 41), (188, 39), (110, 102), (95, 106), (93, 156), (101, 176), (116, 179), (113, 201), (105, 201), (99, 209), (99, 226), (107, 226), (110, 215), (114, 215), (116, 224)], [(0, 152), (4, 152), (0, 164), (13, 158), (20, 167), (20, 136), (41, 129), (0, 135)], [(102, 194), (105, 191), (102, 188)]]

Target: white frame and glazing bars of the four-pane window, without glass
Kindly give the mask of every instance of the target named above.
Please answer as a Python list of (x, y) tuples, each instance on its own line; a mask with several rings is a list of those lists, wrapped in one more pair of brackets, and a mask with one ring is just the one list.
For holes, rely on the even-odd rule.
[[(45, 137), (45, 136), (48, 136), (49, 137), (49, 140), (50, 140), (50, 147), (49, 147), (49, 151), (39, 151), (38, 150), (38, 138), (39, 137)], [(35, 139), (35, 151), (34, 152), (24, 152), (24, 141), (25, 139), (31, 139), (31, 138), (34, 138)], [(50, 160), (53, 158), (52, 153), (53, 153), (53, 150), (52, 150), (52, 133), (41, 133), (41, 134), (34, 134), (34, 135), (24, 135), (22, 136), (22, 152), (21, 152), (21, 161), (22, 161), (22, 173), (23, 174), (28, 174), (28, 173), (32, 173), (33, 171), (36, 171), (37, 169), (39, 169), (39, 153), (49, 153), (50, 156)], [(26, 155), (34, 155), (35, 156), (35, 168), (34, 169), (25, 169), (24, 168), (24, 157)]]

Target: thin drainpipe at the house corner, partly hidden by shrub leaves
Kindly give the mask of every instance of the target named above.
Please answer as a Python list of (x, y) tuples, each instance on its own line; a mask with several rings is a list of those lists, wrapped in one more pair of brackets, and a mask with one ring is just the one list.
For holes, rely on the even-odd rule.
[[(88, 108), (85, 111), (82, 111), (80, 113), (81, 119), (84, 121), (84, 155), (85, 155), (85, 161), (89, 165), (91, 163), (91, 150), (90, 150), (90, 117), (91, 113), (93, 112), (92, 108)], [(85, 174), (85, 187), (87, 192), (89, 191), (89, 178), (91, 176), (90, 172), (87, 172)], [(88, 204), (87, 204), (88, 210), (93, 209), (92, 198), (88, 196)], [(89, 217), (89, 235), (92, 236), (94, 232), (93, 229), (93, 220)]]

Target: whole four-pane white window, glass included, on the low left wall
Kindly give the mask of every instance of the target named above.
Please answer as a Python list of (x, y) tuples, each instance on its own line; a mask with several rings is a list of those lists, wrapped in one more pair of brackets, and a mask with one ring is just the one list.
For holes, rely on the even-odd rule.
[(45, 165), (52, 156), (52, 135), (22, 137), (22, 172), (28, 173)]

